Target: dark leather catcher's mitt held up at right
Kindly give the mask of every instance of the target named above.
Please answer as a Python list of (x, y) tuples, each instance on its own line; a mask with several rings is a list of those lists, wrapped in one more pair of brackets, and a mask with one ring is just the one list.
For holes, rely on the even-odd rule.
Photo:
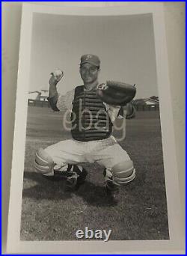
[(135, 97), (135, 93), (135, 86), (114, 81), (102, 83), (96, 90), (96, 94), (104, 103), (116, 106), (125, 106)]

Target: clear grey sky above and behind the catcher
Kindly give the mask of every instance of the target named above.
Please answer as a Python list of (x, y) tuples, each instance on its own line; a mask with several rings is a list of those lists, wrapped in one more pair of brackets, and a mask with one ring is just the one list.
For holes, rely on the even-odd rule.
[(158, 96), (151, 14), (64, 16), (34, 13), (29, 91), (49, 88), (49, 74), (60, 68), (58, 92), (82, 85), (80, 58), (98, 55), (99, 82), (136, 84), (135, 98)]

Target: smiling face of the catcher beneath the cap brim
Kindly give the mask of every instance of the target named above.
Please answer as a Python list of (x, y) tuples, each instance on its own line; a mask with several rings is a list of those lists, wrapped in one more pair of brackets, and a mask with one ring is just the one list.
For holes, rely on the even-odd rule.
[(85, 63), (80, 67), (80, 74), (85, 84), (91, 84), (98, 79), (99, 69), (90, 63)]

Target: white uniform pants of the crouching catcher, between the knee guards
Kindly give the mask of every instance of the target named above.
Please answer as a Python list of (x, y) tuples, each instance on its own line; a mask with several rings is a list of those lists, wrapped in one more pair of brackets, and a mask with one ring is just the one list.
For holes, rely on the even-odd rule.
[(129, 160), (129, 155), (120, 147), (113, 136), (99, 141), (76, 141), (67, 139), (45, 148), (56, 165), (97, 162), (112, 168), (119, 162)]

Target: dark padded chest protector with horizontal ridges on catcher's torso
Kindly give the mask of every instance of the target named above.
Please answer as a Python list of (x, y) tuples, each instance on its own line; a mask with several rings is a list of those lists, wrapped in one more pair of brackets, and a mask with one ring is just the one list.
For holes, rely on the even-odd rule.
[(72, 104), (71, 134), (74, 139), (96, 141), (111, 135), (112, 122), (96, 90), (84, 91), (83, 85), (76, 87)]

